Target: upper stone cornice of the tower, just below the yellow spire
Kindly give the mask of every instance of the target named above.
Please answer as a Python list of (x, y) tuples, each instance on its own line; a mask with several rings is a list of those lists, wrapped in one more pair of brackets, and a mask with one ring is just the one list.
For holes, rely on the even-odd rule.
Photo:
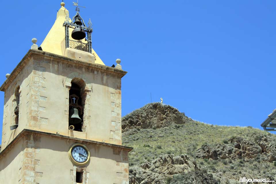
[(30, 61), (30, 59), (33, 56), (39, 56), (39, 57), (42, 57), (43, 59), (51, 60), (52, 62), (53, 61), (61, 62), (61, 63), (66, 63), (66, 64), (70, 64), (70, 65), (74, 65), (74, 66), (82, 66), (82, 67), (86, 67), (86, 68), (91, 68), (91, 69), (98, 70), (101, 72), (114, 74), (121, 78), (125, 74), (127, 74), (126, 71), (119, 70), (119, 69), (116, 69), (116, 68), (113, 68), (110, 66), (105, 66), (105, 65), (101, 65), (101, 64), (95, 64), (95, 63), (88, 63), (88, 62), (84, 62), (81, 60), (74, 60), (69, 57), (64, 57), (61, 55), (57, 55), (57, 54), (53, 54), (53, 53), (49, 53), (49, 52), (45, 52), (45, 51), (41, 51), (41, 50), (30, 49), (26, 53), (26, 55), (23, 57), (23, 59), (19, 62), (19, 64), (16, 66), (16, 68), (11, 72), (10, 76), (2, 84), (2, 86), (0, 87), (0, 91), (5, 91), (7, 89), (7, 87), (12, 83), (12, 81), (14, 81), (16, 76), (22, 71), (24, 66), (26, 66), (26, 64), (28, 64), (28, 62)]

